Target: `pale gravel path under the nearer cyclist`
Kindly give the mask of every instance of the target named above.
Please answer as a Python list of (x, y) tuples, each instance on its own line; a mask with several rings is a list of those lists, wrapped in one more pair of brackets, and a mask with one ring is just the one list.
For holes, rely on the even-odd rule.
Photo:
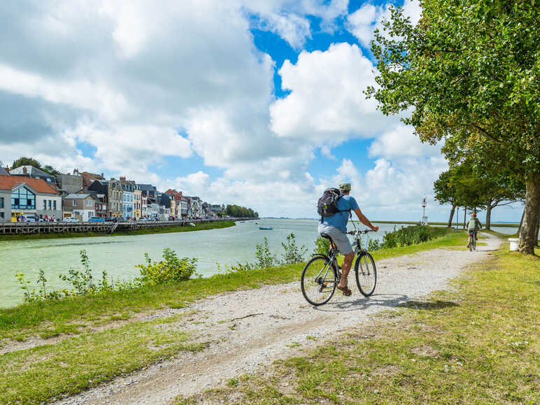
[[(187, 330), (211, 341), (200, 353), (183, 353), (111, 383), (62, 400), (62, 404), (166, 404), (178, 395), (213, 388), (240, 374), (257, 371), (273, 360), (308, 348), (369, 320), (369, 315), (393, 308), (446, 287), (471, 262), (485, 259), (499, 239), (482, 234), (487, 246), (476, 252), (427, 250), (377, 263), (377, 288), (366, 299), (334, 294), (329, 304), (313, 308), (302, 297), (299, 283), (267, 285), (257, 290), (221, 294), (192, 304), (197, 311)], [(354, 276), (349, 285), (354, 286)], [(173, 310), (159, 316), (167, 316)], [(309, 337), (308, 337), (309, 336)], [(317, 341), (313, 340), (313, 337)]]

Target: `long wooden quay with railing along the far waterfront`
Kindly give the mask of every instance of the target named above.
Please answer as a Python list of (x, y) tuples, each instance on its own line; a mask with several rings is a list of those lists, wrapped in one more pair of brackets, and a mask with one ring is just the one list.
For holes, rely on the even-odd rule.
[(215, 218), (204, 220), (130, 221), (130, 222), (6, 222), (0, 223), (0, 235), (64, 234), (96, 232), (112, 234), (116, 231), (185, 227), (207, 222), (245, 221), (257, 218)]

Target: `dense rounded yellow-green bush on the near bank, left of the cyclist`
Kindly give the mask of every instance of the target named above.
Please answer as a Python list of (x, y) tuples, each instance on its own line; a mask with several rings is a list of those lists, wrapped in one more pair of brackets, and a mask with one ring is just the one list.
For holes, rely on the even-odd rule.
[(189, 280), (197, 268), (197, 259), (183, 257), (179, 259), (174, 250), (164, 248), (163, 260), (152, 262), (148, 253), (144, 254), (146, 264), (138, 264), (141, 276), (136, 279), (137, 283), (157, 285)]

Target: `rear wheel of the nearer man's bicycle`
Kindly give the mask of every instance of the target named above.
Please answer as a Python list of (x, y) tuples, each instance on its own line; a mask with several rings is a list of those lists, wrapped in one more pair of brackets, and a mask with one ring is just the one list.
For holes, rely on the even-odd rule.
[(337, 272), (327, 257), (313, 257), (302, 271), (302, 294), (311, 305), (326, 304), (334, 295), (336, 284)]

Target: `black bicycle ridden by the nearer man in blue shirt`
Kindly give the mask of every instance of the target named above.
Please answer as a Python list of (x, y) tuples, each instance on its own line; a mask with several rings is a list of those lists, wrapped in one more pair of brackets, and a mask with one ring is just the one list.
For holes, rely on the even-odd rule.
[[(353, 248), (355, 249), (355, 278), (356, 285), (364, 297), (369, 297), (375, 290), (377, 283), (377, 270), (375, 261), (367, 250), (362, 248), (360, 234), (374, 232), (371, 229), (363, 231), (354, 230), (347, 234), (355, 235)], [(334, 295), (336, 285), (341, 279), (341, 267), (337, 264), (338, 250), (332, 246), (332, 239), (328, 235), (321, 235), (331, 242), (328, 255), (315, 254), (307, 262), (301, 276), (301, 290), (309, 304), (319, 306), (326, 304)]]

